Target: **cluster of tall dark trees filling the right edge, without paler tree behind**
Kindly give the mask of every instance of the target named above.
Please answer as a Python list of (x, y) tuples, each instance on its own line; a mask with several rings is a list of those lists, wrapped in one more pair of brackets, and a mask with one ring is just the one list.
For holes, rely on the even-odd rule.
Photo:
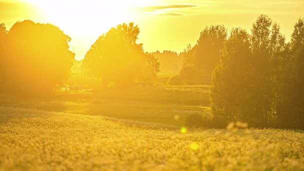
[(303, 127), (303, 35), (299, 19), (286, 44), (279, 25), (267, 15), (258, 16), (251, 35), (233, 28), (213, 73), (213, 119), (241, 120), (257, 127)]

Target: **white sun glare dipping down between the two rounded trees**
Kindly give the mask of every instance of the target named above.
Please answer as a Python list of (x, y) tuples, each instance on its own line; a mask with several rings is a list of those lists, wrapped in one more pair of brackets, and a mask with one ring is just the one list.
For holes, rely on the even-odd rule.
[(75, 52), (77, 59), (83, 58), (96, 38), (111, 27), (123, 22), (147, 23), (146, 15), (136, 13), (138, 8), (165, 3), (165, 0), (17, 1), (30, 3), (37, 9), (38, 16), (35, 16), (36, 19), (32, 18), (35, 22), (56, 25), (69, 35), (72, 38), (70, 50)]

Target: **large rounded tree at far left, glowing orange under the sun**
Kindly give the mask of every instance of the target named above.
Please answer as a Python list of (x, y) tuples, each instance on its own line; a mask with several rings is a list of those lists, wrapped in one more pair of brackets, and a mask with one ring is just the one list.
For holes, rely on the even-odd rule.
[(3, 81), (12, 92), (49, 92), (72, 65), (70, 37), (51, 24), (16, 22), (3, 44)]

